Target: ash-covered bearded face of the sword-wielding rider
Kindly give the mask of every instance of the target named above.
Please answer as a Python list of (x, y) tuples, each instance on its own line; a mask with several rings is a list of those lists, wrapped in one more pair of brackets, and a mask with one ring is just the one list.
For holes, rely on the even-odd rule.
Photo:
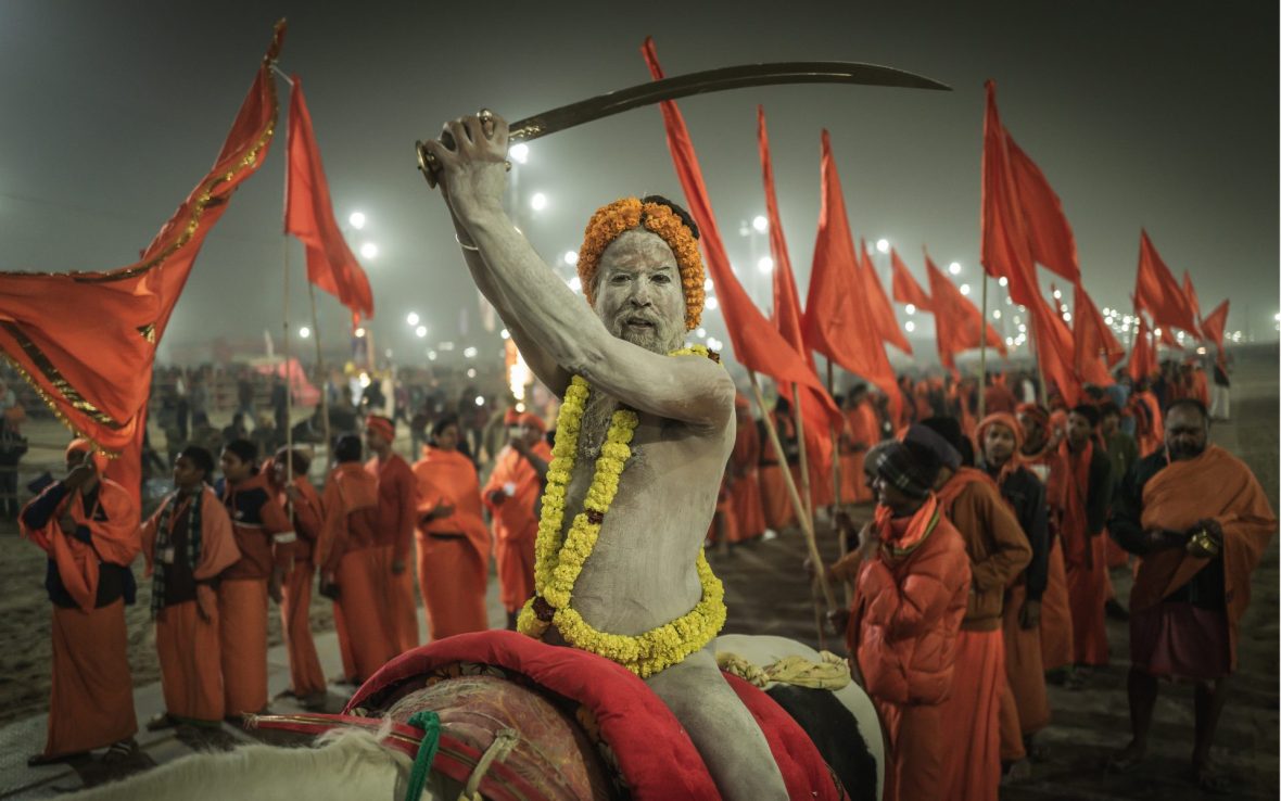
[(620, 340), (656, 354), (680, 347), (685, 293), (676, 255), (656, 233), (625, 231), (601, 254), (596, 314)]

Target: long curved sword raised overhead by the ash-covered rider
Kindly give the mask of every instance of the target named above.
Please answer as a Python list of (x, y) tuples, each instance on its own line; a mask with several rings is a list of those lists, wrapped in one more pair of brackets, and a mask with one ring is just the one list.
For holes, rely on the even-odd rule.
[[(548, 133), (574, 128), (596, 119), (621, 114), (665, 100), (679, 100), (690, 95), (721, 92), (751, 86), (780, 83), (861, 83), (863, 86), (897, 86), (902, 88), (930, 88), (952, 91), (945, 83), (893, 67), (861, 64), (856, 62), (778, 62), (772, 64), (740, 64), (719, 67), (673, 76), (661, 81), (647, 81), (578, 103), (562, 105), (542, 114), (516, 120), (510, 126), (512, 142), (528, 142)], [(447, 137), (447, 135), (446, 135)], [(446, 145), (451, 141), (443, 138)], [(418, 168), (430, 186), (436, 186), (436, 156), (423, 142), (415, 142)]]

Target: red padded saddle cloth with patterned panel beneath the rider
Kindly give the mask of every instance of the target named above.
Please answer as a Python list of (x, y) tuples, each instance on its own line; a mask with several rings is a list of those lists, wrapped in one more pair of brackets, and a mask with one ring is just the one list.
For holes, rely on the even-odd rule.
[[(767, 695), (725, 675), (765, 733), (792, 798), (847, 798), (804, 731)], [(533, 692), (529, 692), (533, 691)], [(407, 651), (356, 692), (341, 724), (398, 722), (387, 741), (416, 752), (415, 711), (441, 718), (433, 769), (466, 782), (498, 732), (518, 742), (480, 782), (485, 798), (715, 800), (716, 784), (666, 704), (635, 674), (597, 656), (515, 632), (457, 634)], [(266, 724), (272, 725), (272, 724)], [(597, 759), (598, 757), (598, 759)]]

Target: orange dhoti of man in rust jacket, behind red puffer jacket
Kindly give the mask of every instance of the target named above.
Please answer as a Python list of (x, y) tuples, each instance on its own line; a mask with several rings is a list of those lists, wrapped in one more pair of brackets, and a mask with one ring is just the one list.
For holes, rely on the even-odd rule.
[(1006, 684), (1006, 643), (1000, 631), (957, 636), (952, 695), (940, 705), (947, 732), (939, 798), (995, 801), (1000, 784), (1000, 695)]

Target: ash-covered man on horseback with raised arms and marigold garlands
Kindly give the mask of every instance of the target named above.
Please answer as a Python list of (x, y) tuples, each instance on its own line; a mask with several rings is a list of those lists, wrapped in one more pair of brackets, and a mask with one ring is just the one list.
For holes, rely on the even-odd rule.
[(646, 678), (726, 798), (785, 798), (765, 736), (707, 647), (724, 624), (724, 591), (701, 546), (734, 445), (734, 383), (714, 360), (669, 356), (702, 313), (692, 220), (660, 197), (597, 210), (578, 261), (584, 305), (502, 210), (506, 122), (483, 111), (445, 132), (452, 146), (427, 147), (468, 268), (530, 368), (565, 399), (538, 595), (520, 629)]

